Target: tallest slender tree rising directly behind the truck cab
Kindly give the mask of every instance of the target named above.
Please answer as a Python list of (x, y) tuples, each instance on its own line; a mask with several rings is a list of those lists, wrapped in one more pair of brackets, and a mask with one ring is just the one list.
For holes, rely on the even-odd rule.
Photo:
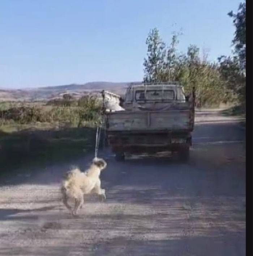
[(146, 40), (147, 58), (144, 59), (144, 82), (160, 82), (165, 68), (165, 44), (160, 38), (159, 30), (152, 29)]

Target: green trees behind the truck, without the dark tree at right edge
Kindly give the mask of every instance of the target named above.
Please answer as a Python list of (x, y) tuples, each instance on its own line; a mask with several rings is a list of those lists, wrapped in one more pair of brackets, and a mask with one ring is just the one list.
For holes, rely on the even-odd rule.
[[(144, 62), (144, 81), (178, 80), (184, 85), (186, 93), (192, 91), (194, 86), (197, 107), (227, 101), (229, 91), (222, 83), (218, 65), (209, 63), (206, 59), (201, 60), (200, 49), (196, 45), (189, 45), (187, 53), (178, 53), (178, 36), (179, 34), (174, 33), (166, 48), (158, 30), (152, 30), (147, 38), (148, 58)], [(152, 66), (153, 63), (155, 66)]]

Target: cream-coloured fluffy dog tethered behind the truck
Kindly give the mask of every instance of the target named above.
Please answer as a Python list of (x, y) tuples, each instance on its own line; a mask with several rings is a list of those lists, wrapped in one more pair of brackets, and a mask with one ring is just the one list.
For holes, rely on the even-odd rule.
[[(107, 166), (106, 161), (102, 158), (94, 158), (91, 166), (86, 172), (81, 172), (75, 168), (66, 173), (61, 183), (61, 193), (63, 203), (72, 215), (77, 215), (77, 211), (83, 206), (85, 194), (97, 194), (106, 199), (106, 191), (101, 188), (100, 172)], [(68, 204), (69, 199), (74, 199), (75, 205), (72, 207)]]

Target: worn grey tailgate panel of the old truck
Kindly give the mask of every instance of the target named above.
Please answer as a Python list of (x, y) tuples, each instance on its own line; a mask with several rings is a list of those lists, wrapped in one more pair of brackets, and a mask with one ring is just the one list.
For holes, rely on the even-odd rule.
[(108, 131), (190, 130), (190, 110), (115, 111), (107, 113)]

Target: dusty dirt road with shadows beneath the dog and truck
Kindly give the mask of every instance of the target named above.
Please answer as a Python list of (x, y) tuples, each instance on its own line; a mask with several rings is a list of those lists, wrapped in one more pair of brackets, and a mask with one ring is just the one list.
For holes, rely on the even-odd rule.
[(92, 155), (7, 177), (0, 255), (245, 255), (245, 131), (210, 115), (198, 116), (188, 164), (116, 162), (100, 152), (108, 161), (101, 176), (107, 200), (88, 198), (76, 218), (60, 201), (60, 178), (70, 165), (84, 170)]

